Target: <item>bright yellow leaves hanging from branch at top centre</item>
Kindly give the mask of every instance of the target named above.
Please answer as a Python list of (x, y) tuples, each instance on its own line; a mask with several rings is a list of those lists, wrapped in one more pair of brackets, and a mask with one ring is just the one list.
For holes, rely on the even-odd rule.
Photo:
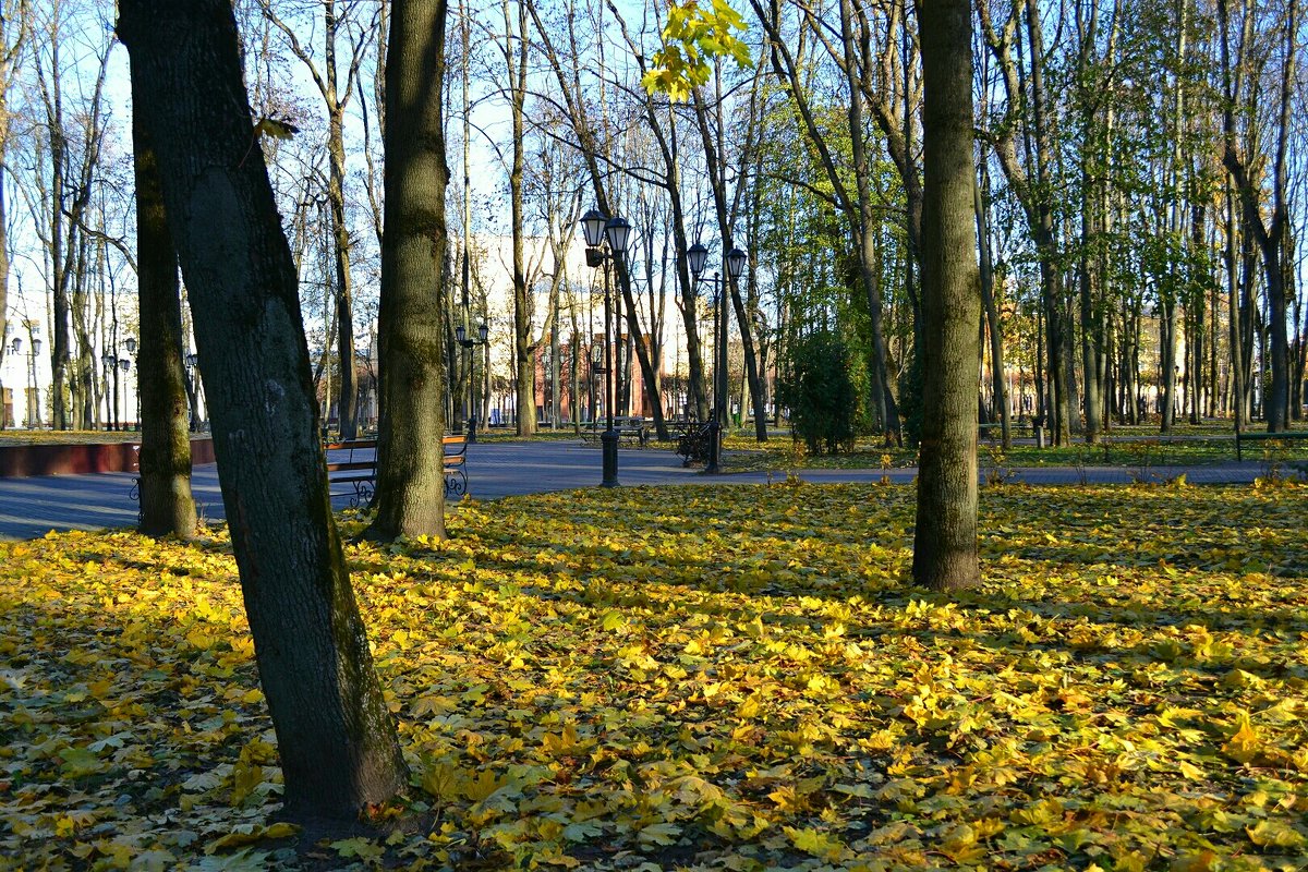
[(654, 54), (654, 65), (641, 78), (641, 85), (679, 102), (709, 81), (719, 58), (731, 58), (743, 68), (752, 67), (749, 47), (736, 37), (746, 30), (744, 18), (726, 0), (674, 3), (667, 10), (663, 47)]

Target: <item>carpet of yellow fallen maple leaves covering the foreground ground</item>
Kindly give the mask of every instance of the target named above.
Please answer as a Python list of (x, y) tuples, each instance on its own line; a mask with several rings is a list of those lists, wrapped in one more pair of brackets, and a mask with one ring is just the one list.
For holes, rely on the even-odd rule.
[(221, 533), (3, 544), (0, 867), (1308, 864), (1308, 489), (986, 489), (955, 597), (912, 510), (595, 489), (349, 546), (382, 814), (430, 824), (298, 854)]

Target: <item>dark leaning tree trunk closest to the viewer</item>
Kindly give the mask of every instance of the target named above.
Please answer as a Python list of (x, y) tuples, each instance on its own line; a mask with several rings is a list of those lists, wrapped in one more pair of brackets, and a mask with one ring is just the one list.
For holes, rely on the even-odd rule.
[(403, 790), (407, 770), (328, 505), (294, 263), (251, 132), (232, 7), (119, 9), (190, 292), (285, 808), (354, 821)]

